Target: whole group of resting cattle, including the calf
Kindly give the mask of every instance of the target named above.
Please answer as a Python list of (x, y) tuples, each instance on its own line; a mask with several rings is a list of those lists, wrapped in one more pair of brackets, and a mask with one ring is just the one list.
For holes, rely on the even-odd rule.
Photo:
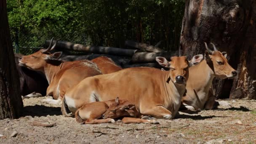
[(117, 117), (123, 117), (123, 123), (158, 123), (154, 118), (172, 119), (181, 108), (195, 111), (229, 105), (215, 101), (211, 83), (214, 77), (234, 78), (237, 72), (228, 64), (227, 53), (218, 51), (213, 43), (213, 51), (205, 43), (204, 56), (191, 60), (186, 56), (173, 56), (170, 61), (156, 57), (161, 66), (170, 68), (165, 71), (122, 69), (105, 56), (59, 61), (62, 53), (51, 53), (57, 42), (53, 45), (52, 39), (47, 49), (28, 56), (16, 55), (21, 66), (21, 95), (36, 91), (53, 96), (43, 102), (61, 104), (62, 114), (75, 115), (79, 123), (112, 123)]

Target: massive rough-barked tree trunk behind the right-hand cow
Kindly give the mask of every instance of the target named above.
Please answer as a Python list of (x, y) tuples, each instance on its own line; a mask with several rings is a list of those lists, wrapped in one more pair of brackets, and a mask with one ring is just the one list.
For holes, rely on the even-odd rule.
[(215, 80), (216, 96), (256, 99), (256, 0), (186, 0), (179, 50), (191, 58), (204, 53), (204, 42), (239, 70), (233, 82)]

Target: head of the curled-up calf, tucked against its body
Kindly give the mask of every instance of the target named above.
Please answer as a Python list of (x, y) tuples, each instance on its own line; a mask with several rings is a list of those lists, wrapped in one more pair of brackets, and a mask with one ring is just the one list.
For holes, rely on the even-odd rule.
[(139, 111), (136, 109), (135, 104), (131, 104), (129, 101), (123, 101), (120, 103), (118, 97), (115, 99), (115, 103), (109, 106), (109, 109), (102, 115), (102, 118), (117, 118), (122, 116), (136, 117)]

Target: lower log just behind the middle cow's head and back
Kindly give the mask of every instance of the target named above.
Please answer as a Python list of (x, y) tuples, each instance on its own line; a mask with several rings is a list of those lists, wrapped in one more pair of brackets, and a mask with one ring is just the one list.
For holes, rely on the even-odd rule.
[(147, 52), (140, 52), (135, 53), (131, 58), (131, 63), (151, 63), (155, 62), (155, 58), (157, 56), (165, 57), (165, 59), (170, 59), (171, 56), (178, 56), (178, 51), (173, 52), (165, 52), (165, 53), (147, 53)]

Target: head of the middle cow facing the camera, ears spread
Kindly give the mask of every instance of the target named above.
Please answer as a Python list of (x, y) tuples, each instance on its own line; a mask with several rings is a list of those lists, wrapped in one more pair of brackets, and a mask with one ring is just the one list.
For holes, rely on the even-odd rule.
[(203, 59), (203, 55), (196, 55), (191, 61), (187, 60), (187, 56), (173, 56), (171, 61), (167, 61), (164, 57), (157, 56), (156, 61), (163, 67), (170, 68), (170, 78), (175, 84), (186, 84), (188, 78), (188, 68), (196, 65)]

